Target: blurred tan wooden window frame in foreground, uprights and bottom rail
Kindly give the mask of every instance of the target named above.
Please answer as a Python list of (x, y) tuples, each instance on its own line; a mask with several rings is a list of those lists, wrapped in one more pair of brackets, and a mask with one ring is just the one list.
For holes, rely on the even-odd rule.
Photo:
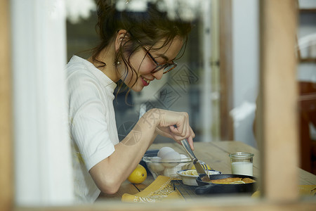
[[(227, 200), (139, 205), (106, 203), (75, 207), (16, 207), (13, 193), (13, 122), (9, 2), (0, 3), (0, 205), (1, 210), (312, 210), (315, 202), (300, 201), (298, 132), (296, 125), (296, 1), (261, 1), (261, 97), (258, 132), (263, 149), (262, 184), (265, 200), (227, 204)], [(280, 47), (282, 46), (282, 47)], [(286, 91), (286, 92), (284, 92)], [(282, 113), (281, 117), (279, 113)], [(287, 146), (287, 147), (284, 147)], [(287, 164), (287, 165), (285, 165)], [(284, 167), (282, 167), (284, 166)], [(277, 181), (275, 175), (282, 178)], [(244, 203), (243, 203), (244, 202)]]

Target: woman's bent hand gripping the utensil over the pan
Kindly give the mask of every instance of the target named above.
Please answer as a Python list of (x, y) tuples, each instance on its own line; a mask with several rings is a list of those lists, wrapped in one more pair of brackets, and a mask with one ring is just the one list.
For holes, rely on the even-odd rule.
[(195, 133), (190, 127), (187, 113), (154, 108), (144, 117), (149, 118), (148, 120), (157, 120), (156, 132), (158, 134), (169, 137), (178, 143), (183, 139), (187, 139), (192, 150), (194, 149), (193, 138), (195, 138)]

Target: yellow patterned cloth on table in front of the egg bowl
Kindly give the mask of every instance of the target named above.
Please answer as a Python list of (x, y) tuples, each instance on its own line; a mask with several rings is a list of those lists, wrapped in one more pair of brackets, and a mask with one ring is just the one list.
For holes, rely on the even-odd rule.
[(172, 179), (171, 177), (158, 176), (143, 191), (134, 195), (124, 193), (121, 196), (121, 201), (126, 203), (157, 203), (170, 199), (184, 200), (183, 196), (173, 189)]

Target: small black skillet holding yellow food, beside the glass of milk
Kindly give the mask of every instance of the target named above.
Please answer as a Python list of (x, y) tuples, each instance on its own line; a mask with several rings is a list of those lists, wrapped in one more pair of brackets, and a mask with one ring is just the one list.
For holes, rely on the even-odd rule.
[[(209, 179), (225, 179), (228, 177), (241, 177), (251, 178), (258, 181), (255, 177), (247, 175), (237, 174), (213, 174), (209, 175)], [(230, 193), (245, 193), (252, 194), (256, 191), (258, 182), (248, 184), (213, 184), (211, 182), (202, 181), (200, 177), (197, 177), (198, 188), (195, 188), (195, 193), (198, 195), (202, 194), (230, 194)]]

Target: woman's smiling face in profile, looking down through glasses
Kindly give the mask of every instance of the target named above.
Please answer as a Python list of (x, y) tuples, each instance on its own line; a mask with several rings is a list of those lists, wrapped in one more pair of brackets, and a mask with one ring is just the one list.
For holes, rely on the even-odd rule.
[[(183, 39), (175, 37), (170, 44), (167, 44), (160, 49), (164, 43), (163, 41), (164, 40), (159, 41), (152, 47), (152, 49), (159, 50), (149, 51), (159, 65), (163, 63), (171, 63), (183, 46)], [(146, 55), (145, 49), (140, 48), (136, 53), (133, 53), (130, 62), (136, 72), (138, 72), (138, 75), (136, 75), (133, 70), (128, 70), (124, 83), (133, 91), (141, 91), (144, 87), (147, 87), (152, 80), (162, 78), (164, 70), (152, 73), (152, 70), (154, 70), (157, 65), (148, 54)], [(135, 81), (136, 84), (133, 85)]]

